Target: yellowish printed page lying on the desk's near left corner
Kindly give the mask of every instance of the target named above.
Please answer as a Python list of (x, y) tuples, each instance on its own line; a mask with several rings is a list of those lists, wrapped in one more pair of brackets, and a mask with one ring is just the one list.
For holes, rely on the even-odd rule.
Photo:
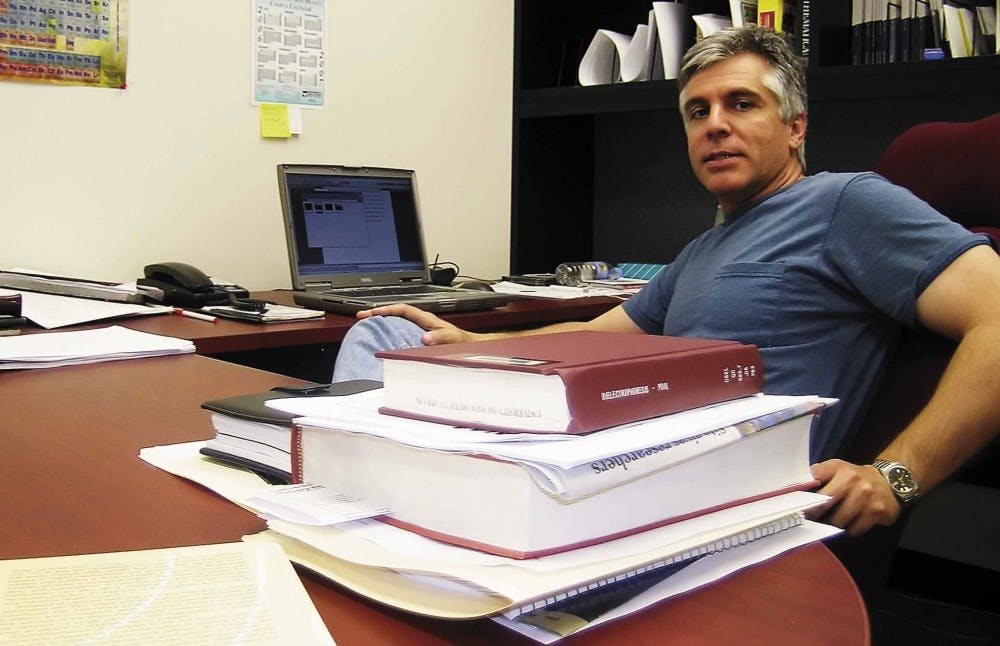
[(280, 548), (264, 543), (0, 561), (0, 641), (334, 643)]

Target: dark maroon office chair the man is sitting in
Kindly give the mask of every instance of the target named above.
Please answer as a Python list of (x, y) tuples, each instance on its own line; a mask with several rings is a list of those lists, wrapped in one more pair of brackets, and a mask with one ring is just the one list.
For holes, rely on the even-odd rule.
[[(923, 123), (893, 140), (875, 170), (1000, 245), (998, 151), (1000, 113)], [(926, 404), (954, 350), (926, 329), (904, 331), (848, 459), (871, 462)], [(892, 527), (831, 548), (865, 596), (876, 646), (1000, 643), (1000, 442)], [(992, 592), (974, 589), (984, 585)]]

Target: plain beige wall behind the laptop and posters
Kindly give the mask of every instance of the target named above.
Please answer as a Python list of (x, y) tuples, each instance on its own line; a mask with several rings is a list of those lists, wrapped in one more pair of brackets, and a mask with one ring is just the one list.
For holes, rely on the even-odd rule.
[(413, 168), (431, 258), (507, 271), (510, 0), (327, 0), (327, 105), (287, 141), (258, 135), (249, 0), (129, 5), (127, 90), (0, 81), (0, 266), (288, 287), (285, 162)]

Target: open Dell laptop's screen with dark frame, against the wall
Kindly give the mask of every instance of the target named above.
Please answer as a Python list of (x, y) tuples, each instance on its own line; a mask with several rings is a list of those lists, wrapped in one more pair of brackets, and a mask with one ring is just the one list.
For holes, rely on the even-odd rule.
[(278, 166), (295, 289), (425, 282), (414, 173)]

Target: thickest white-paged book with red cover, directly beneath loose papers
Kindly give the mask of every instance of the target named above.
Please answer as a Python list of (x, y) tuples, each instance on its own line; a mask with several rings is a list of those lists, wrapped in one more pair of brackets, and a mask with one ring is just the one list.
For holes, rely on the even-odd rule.
[[(300, 418), (292, 478), (387, 507), (385, 522), (434, 539), (531, 558), (815, 486), (809, 431), (823, 406), (793, 407), (562, 470), (498, 457), (516, 453), (510, 443), (459, 453), (371, 435), (363, 424), (352, 432), (342, 422)], [(572, 441), (561, 445), (567, 453)]]

